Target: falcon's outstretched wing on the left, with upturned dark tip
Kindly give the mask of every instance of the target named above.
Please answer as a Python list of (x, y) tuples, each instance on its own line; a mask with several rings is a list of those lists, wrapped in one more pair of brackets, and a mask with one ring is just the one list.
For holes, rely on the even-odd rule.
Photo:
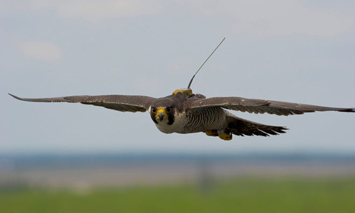
[(102, 106), (121, 112), (145, 112), (148, 110), (150, 103), (155, 100), (155, 98), (148, 96), (124, 95), (66, 96), (57, 98), (19, 98), (11, 94), (9, 95), (21, 101), (82, 103)]

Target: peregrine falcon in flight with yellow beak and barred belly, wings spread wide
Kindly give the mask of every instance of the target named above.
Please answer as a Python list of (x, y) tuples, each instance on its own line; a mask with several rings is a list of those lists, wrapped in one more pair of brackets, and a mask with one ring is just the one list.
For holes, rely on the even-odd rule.
[(11, 96), (21, 101), (82, 103), (121, 112), (148, 110), (158, 130), (163, 133), (204, 132), (207, 136), (218, 136), (223, 140), (231, 140), (232, 135), (269, 136), (286, 133), (288, 130), (284, 126), (265, 125), (239, 118), (227, 110), (286, 116), (315, 111), (355, 112), (355, 108), (333, 108), (240, 97), (206, 98), (201, 94), (193, 94), (190, 88), (175, 90), (172, 95), (163, 98), (102, 95), (32, 99)]

